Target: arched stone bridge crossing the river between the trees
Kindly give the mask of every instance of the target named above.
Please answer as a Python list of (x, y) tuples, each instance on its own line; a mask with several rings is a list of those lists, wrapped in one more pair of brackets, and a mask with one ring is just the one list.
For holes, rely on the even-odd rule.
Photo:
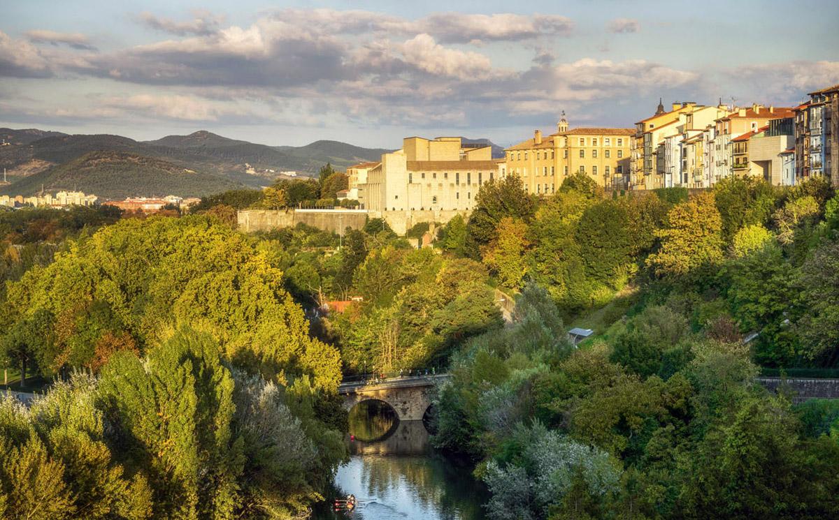
[(377, 399), (390, 405), (400, 421), (422, 420), (431, 405), (435, 384), (448, 378), (446, 374), (405, 378), (389, 378), (378, 382), (347, 381), (338, 387), (338, 394), (344, 396), (344, 408), (352, 409), (356, 404)]

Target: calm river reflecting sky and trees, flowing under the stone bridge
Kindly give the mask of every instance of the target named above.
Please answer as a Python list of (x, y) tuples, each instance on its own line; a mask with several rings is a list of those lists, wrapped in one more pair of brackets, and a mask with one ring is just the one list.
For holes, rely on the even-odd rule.
[[(371, 404), (362, 406), (363, 404)], [(399, 421), (392, 410), (367, 401), (350, 414), (350, 461), (338, 468), (315, 520), (483, 520), (486, 488), (461, 466), (436, 452), (423, 421)], [(352, 493), (352, 512), (333, 510), (336, 497)]]

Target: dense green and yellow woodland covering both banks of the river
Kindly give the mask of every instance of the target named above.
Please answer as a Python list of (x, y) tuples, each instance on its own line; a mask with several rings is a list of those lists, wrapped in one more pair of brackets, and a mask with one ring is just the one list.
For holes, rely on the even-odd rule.
[(346, 182), (324, 173), (187, 216), (0, 213), (0, 355), (55, 381), (0, 404), (0, 517), (305, 515), (346, 457), (341, 375), (432, 367), (435, 445), (492, 518), (839, 515), (839, 405), (754, 382), (839, 363), (821, 179), (537, 198), (506, 178), (433, 249), (428, 224), (233, 229)]

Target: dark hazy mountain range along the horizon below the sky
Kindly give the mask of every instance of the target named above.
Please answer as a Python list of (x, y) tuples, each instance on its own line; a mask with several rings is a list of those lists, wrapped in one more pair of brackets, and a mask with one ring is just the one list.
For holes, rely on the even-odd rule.
[[(464, 142), (486, 142), (486, 139)], [(383, 148), (316, 141), (303, 147), (270, 147), (196, 131), (135, 141), (109, 134), (69, 135), (38, 129), (0, 128), (0, 168), (8, 183), (0, 193), (29, 196), (77, 189), (100, 198), (175, 194), (203, 196), (227, 189), (260, 188), (281, 172), (314, 175), (330, 162), (343, 170), (378, 161)], [(503, 155), (503, 150), (501, 150)]]

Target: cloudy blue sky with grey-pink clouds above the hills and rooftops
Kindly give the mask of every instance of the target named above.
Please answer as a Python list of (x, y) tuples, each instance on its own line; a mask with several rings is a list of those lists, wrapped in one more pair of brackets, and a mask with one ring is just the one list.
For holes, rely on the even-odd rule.
[(0, 0), (0, 126), (272, 146), (632, 127), (839, 83), (839, 2)]

